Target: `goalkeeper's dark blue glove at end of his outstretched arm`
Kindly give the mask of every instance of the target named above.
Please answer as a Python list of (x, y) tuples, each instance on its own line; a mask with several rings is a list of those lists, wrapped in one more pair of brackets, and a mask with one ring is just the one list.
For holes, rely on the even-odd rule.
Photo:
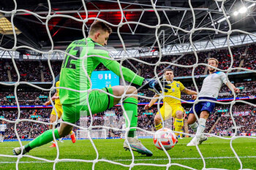
[[(162, 87), (164, 88), (165, 92), (167, 92), (167, 89), (170, 89), (169, 85), (170, 81), (161, 81)], [(160, 93), (162, 91), (162, 88), (159, 85), (159, 82), (156, 79), (144, 79), (142, 83), (142, 88), (148, 88), (148, 90), (152, 90), (155, 93)]]

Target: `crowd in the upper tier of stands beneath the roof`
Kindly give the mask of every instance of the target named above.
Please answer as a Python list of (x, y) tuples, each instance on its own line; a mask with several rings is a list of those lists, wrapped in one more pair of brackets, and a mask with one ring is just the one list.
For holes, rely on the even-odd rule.
[[(246, 69), (256, 69), (256, 45), (249, 45), (243, 47), (233, 47), (231, 48), (233, 53), (233, 68), (238, 66), (244, 67)], [(219, 69), (228, 69), (231, 64), (230, 53), (227, 49), (225, 50), (211, 50), (207, 52), (197, 53), (198, 62), (206, 63), (207, 58), (214, 57), (219, 60)], [(141, 61), (147, 63), (157, 63), (159, 58), (139, 58)], [(57, 76), (61, 70), (62, 61), (50, 61), (50, 66), (53, 69), (53, 74)], [(162, 70), (166, 67), (171, 67), (174, 70), (176, 77), (184, 77), (192, 75), (192, 65), (196, 63), (196, 57), (194, 54), (187, 55), (171, 55), (162, 58), (162, 62), (173, 62), (179, 66), (171, 67), (170, 64), (160, 64), (157, 66), (157, 74), (162, 75)], [(47, 61), (18, 61), (15, 60), (15, 65), (18, 67), (18, 72), (20, 74), (20, 81), (26, 82), (51, 82), (53, 80), (50, 73), (50, 69)], [(152, 78), (154, 77), (154, 66), (149, 66), (138, 61), (129, 59), (124, 61), (124, 66), (137, 72), (139, 75)], [(191, 66), (190, 68), (185, 68), (182, 66)], [(97, 70), (106, 70), (105, 66), (100, 64)], [(232, 72), (240, 72), (240, 69), (233, 70)], [(9, 73), (8, 73), (9, 72)], [(206, 74), (206, 66), (197, 66), (195, 69), (195, 75)], [(15, 71), (15, 67), (11, 59), (0, 59), (0, 82), (15, 82), (18, 80), (18, 74)]]

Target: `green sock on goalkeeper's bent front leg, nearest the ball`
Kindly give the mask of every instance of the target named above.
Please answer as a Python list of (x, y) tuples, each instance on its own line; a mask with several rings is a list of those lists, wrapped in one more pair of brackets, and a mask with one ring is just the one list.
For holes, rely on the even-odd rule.
[(128, 132), (128, 137), (135, 137), (136, 136), (136, 129), (133, 127), (137, 127), (138, 123), (138, 99), (137, 98), (127, 98), (124, 101), (124, 110), (127, 112), (127, 116), (129, 119), (130, 126), (128, 125), (127, 117), (124, 115), (125, 118), (125, 125), (126, 127), (130, 127), (132, 129)]

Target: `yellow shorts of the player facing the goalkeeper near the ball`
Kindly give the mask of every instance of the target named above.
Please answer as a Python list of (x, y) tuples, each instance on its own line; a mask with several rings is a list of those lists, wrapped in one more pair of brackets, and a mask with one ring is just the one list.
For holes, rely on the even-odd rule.
[[(167, 104), (167, 102), (164, 102), (160, 108), (160, 112), (164, 120), (167, 120), (170, 117), (176, 117), (176, 112), (178, 110), (184, 113), (184, 108), (181, 107), (181, 104)], [(157, 112), (157, 114), (159, 114), (159, 112)]]

